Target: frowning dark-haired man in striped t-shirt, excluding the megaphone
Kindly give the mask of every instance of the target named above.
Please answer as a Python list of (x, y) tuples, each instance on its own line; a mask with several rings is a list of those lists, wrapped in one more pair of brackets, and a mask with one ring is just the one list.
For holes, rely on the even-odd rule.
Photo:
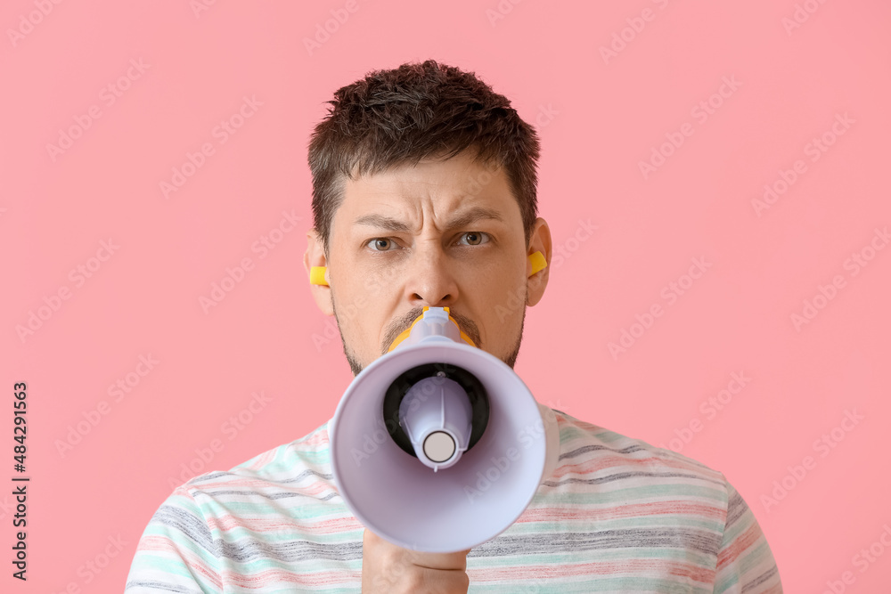
[[(435, 61), (374, 71), (331, 104), (309, 145), (304, 264), (354, 375), (425, 307), (448, 307), (512, 367), (526, 305), (548, 283), (528, 256), (552, 256), (535, 130), (472, 73)], [(558, 468), (475, 549), (422, 554), (365, 530), (332, 483), (322, 426), (179, 487), (143, 534), (127, 592), (782, 591), (721, 473), (553, 414)]]

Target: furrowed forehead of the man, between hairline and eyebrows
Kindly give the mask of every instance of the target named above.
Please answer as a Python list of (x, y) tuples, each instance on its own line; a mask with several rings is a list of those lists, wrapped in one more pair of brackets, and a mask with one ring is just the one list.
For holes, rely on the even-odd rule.
[(465, 151), (452, 159), (425, 159), (386, 171), (347, 179), (335, 224), (351, 224), (368, 212), (410, 216), (429, 210), (434, 216), (472, 207), (499, 212), (505, 222), (522, 224), (506, 171), (495, 163), (474, 162)]

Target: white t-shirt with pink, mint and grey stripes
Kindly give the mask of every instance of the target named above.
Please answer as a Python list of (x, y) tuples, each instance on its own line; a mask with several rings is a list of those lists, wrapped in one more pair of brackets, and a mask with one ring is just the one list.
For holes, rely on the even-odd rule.
[[(723, 474), (555, 411), (560, 458), (517, 522), (467, 557), (470, 593), (782, 591)], [(146, 527), (127, 593), (360, 592), (359, 524), (327, 424), (178, 487)]]

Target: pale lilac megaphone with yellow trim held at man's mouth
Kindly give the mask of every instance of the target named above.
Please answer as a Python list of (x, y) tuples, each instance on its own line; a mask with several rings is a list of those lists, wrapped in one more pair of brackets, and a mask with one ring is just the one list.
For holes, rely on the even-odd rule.
[(551, 409), (447, 307), (425, 307), (353, 379), (328, 431), (347, 508), (381, 538), (432, 553), (503, 533), (560, 452)]

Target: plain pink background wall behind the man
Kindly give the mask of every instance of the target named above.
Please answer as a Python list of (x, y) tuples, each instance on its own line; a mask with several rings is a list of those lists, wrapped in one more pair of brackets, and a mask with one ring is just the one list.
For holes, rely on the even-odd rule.
[[(527, 312), (516, 369), (536, 397), (723, 471), (787, 591), (846, 572), (846, 591), (885, 591), (891, 249), (875, 230), (891, 225), (891, 7), (590, 4), (4, 2), (0, 483), (18, 474), (17, 381), (31, 483), (27, 583), (11, 577), (12, 486), (0, 488), (0, 589), (122, 590), (184, 465), (231, 468), (331, 417), (351, 375), (302, 267), (308, 137), (340, 86), (434, 58), (475, 71), (541, 134), (541, 214), (564, 257)], [(307, 50), (335, 28), (332, 10), (348, 18)], [(723, 80), (739, 85), (722, 97)], [(244, 97), (262, 105), (221, 142), (215, 127)], [(698, 108), (710, 97), (711, 113)], [(72, 127), (69, 148), (47, 148)], [(645, 177), (640, 163), (679, 135)], [(166, 198), (160, 183), (204, 143), (213, 154)], [(782, 175), (794, 183), (756, 208)], [(283, 211), (297, 228), (252, 249)], [(861, 252), (865, 267), (850, 259)], [(205, 313), (200, 297), (243, 258), (252, 269)], [(694, 258), (710, 265), (689, 284)], [(805, 300), (820, 309), (796, 327)], [(650, 327), (634, 326), (655, 304)], [(47, 319), (20, 336), (32, 312)], [(614, 356), (623, 330), (634, 344)], [(734, 372), (750, 379), (719, 411), (708, 399)], [(128, 392), (110, 394), (119, 379)], [(250, 412), (255, 392), (270, 400)], [(841, 428), (846, 411), (862, 419)], [(79, 442), (60, 451), (69, 434)], [(871, 545), (879, 557), (856, 557)]]

